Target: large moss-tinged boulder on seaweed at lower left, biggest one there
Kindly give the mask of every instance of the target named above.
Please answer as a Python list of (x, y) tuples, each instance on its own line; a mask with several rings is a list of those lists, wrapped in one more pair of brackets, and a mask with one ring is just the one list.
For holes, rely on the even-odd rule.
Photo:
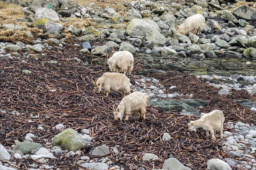
[(58, 144), (66, 150), (73, 150), (75, 152), (87, 144), (76, 130), (70, 128), (55, 136), (52, 139), (52, 143)]

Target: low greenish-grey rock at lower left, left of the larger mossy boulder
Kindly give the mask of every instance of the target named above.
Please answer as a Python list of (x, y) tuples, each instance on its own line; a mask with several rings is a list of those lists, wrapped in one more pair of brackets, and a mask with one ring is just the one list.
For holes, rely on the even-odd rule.
[(20, 150), (23, 155), (31, 153), (32, 150), (37, 149), (37, 148), (43, 147), (41, 144), (35, 143), (35, 142), (30, 142), (30, 141), (24, 141), (18, 143), (14, 148), (13, 151)]

